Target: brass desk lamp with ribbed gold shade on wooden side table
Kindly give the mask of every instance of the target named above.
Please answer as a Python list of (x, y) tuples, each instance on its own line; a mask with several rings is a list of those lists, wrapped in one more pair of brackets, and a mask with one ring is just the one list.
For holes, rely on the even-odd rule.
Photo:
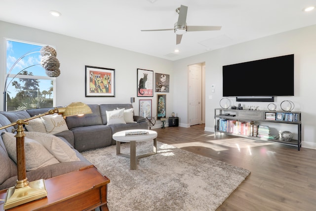
[(26, 177), (26, 167), (25, 167), (25, 151), (24, 151), (24, 136), (25, 133), (23, 125), (28, 124), (28, 121), (50, 114), (61, 114), (64, 118), (68, 116), (92, 114), (89, 106), (84, 103), (76, 102), (71, 103), (67, 107), (54, 108), (43, 114), (27, 118), (24, 120), (17, 120), (15, 123), (10, 125), (0, 127), (4, 129), (6, 127), (11, 127), (17, 125), (16, 137), (16, 157), (17, 157), (17, 170), (18, 179), (14, 187), (10, 187), (6, 192), (6, 197), (4, 201), (4, 209), (10, 209), (18, 205), (22, 205), (43, 197), (47, 196), (47, 191), (45, 187), (44, 179), (29, 182)]

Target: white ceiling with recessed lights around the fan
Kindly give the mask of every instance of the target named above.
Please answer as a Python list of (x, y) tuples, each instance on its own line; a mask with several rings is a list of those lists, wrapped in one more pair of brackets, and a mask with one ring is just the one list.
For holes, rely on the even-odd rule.
[[(222, 29), (187, 32), (178, 45), (173, 31), (140, 31), (173, 28), (181, 4), (188, 25)], [(310, 5), (316, 0), (1, 0), (0, 20), (177, 60), (315, 25), (316, 9), (303, 12)]]

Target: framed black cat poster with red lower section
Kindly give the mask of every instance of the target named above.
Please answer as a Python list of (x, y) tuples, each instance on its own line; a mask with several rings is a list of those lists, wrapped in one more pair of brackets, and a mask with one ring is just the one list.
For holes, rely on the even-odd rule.
[(154, 71), (137, 69), (137, 97), (153, 97)]

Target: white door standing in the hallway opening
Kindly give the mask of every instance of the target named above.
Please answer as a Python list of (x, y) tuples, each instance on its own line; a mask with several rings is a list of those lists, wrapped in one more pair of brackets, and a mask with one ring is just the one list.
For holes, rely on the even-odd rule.
[(190, 126), (201, 123), (201, 73), (200, 65), (189, 66), (189, 112)]

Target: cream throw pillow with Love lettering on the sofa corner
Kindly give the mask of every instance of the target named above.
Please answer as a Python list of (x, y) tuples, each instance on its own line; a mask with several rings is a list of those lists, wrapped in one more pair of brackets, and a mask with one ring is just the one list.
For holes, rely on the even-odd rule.
[(49, 134), (56, 134), (65, 130), (69, 130), (66, 121), (61, 115), (53, 114), (41, 117), (46, 131)]

